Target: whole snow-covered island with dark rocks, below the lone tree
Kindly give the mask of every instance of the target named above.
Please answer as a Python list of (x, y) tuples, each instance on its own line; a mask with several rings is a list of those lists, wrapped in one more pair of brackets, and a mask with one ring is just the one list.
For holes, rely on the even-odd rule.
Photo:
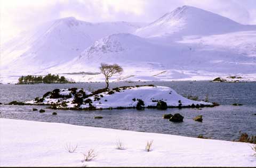
[(113, 108), (213, 107), (216, 104), (185, 98), (169, 87), (124, 86), (113, 89), (86, 91), (78, 88), (54, 89), (26, 105), (51, 105), (53, 109), (102, 110)]

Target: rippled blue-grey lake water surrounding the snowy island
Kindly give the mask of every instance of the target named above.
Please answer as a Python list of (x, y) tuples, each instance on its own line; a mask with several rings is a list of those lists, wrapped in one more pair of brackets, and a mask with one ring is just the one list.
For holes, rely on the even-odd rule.
[[(206, 95), (210, 102), (217, 102), (221, 106), (202, 110), (193, 108), (169, 108), (166, 111), (146, 109), (137, 111), (126, 110), (102, 110), (102, 111), (72, 111), (50, 110), (45, 113), (31, 111), (32, 108), (44, 108), (46, 106), (13, 106), (0, 105), (0, 117), (8, 119), (59, 122), (90, 127), (113, 128), (141, 132), (167, 133), (197, 137), (202, 134), (212, 139), (234, 140), (239, 137), (239, 131), (256, 135), (256, 83), (212, 83), (209, 81), (172, 81), (172, 82), (115, 82), (110, 87), (135, 86), (154, 84), (168, 86), (181, 95), (198, 96), (199, 100)], [(12, 100), (25, 101), (35, 97), (41, 97), (47, 91), (55, 88), (84, 88), (96, 90), (103, 88), (105, 83), (73, 83), (73, 84), (39, 84), (39, 85), (0, 85), (1, 103), (9, 103)], [(241, 103), (243, 106), (233, 106), (233, 103)], [(58, 115), (52, 115), (55, 111)], [(173, 123), (162, 119), (163, 114), (180, 113), (184, 122)], [(103, 119), (95, 120), (94, 116), (103, 116)], [(203, 115), (203, 122), (196, 122), (193, 117)]]

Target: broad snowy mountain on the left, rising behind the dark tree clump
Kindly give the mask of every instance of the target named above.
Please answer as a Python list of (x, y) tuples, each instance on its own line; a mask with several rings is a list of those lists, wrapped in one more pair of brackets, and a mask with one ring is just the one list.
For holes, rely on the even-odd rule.
[(0, 68), (36, 73), (71, 60), (99, 38), (134, 32), (139, 26), (129, 22), (89, 23), (75, 18), (47, 22), (4, 44)]

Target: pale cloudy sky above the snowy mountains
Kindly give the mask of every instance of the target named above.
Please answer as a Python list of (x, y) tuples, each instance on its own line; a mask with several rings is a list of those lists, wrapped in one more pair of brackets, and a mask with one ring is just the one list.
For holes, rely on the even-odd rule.
[(153, 22), (190, 5), (242, 24), (256, 24), (256, 0), (0, 0), (0, 42), (38, 24), (74, 16), (88, 22)]

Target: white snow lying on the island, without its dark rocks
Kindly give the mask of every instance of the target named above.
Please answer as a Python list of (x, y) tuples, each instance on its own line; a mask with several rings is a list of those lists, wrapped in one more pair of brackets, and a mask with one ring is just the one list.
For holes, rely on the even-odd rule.
[[(77, 89), (77, 93), (81, 89)], [(116, 107), (136, 107), (138, 104), (138, 99), (143, 100), (145, 107), (147, 106), (156, 106), (158, 100), (163, 100), (166, 102), (167, 106), (179, 106), (179, 100), (181, 100), (182, 106), (188, 106), (188, 105), (212, 105), (212, 103), (207, 103), (207, 102), (199, 102), (195, 100), (190, 100), (187, 99), (181, 95), (179, 95), (175, 90), (169, 88), (169, 87), (164, 87), (164, 86), (140, 86), (140, 87), (128, 87), (126, 89), (120, 88), (120, 91), (114, 91), (114, 94), (109, 95), (108, 91), (98, 94), (98, 97), (100, 100), (94, 100), (95, 95), (84, 98), (86, 99), (91, 99), (92, 100), (92, 105), (95, 106), (97, 109), (99, 108), (116, 108)], [(87, 91), (85, 91), (87, 95)], [(60, 89), (60, 95), (69, 95), (71, 94), (71, 91), (68, 89)], [(102, 95), (102, 96), (100, 96)], [(134, 99), (135, 98), (135, 99)], [(61, 104), (62, 102), (68, 102), (67, 107), (63, 107), (60, 105), (62, 108), (70, 108), (70, 107), (75, 107), (76, 104), (72, 103), (74, 99), (74, 95), (72, 95), (71, 98), (50, 98), (49, 96), (46, 96), (42, 104), (51, 104), (51, 103), (57, 103)], [(134, 99), (134, 100), (133, 100)], [(60, 102), (58, 102), (60, 100)], [(106, 101), (107, 100), (107, 101)], [(155, 100), (155, 101), (154, 101)], [(153, 102), (154, 101), (154, 102)], [(29, 104), (37, 104), (35, 100), (31, 100), (25, 103)], [(41, 104), (41, 103), (39, 103)], [(58, 107), (58, 106), (57, 106)], [(89, 104), (82, 104), (80, 108), (87, 108), (89, 107)]]

